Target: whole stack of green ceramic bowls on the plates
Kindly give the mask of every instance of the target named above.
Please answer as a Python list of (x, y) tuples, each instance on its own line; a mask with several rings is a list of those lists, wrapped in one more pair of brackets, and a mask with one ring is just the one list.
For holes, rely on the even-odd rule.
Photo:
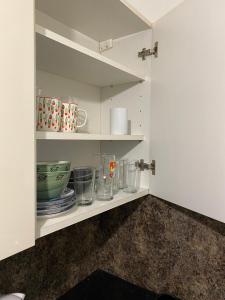
[(60, 197), (70, 178), (70, 162), (37, 163), (37, 199), (46, 201)]

